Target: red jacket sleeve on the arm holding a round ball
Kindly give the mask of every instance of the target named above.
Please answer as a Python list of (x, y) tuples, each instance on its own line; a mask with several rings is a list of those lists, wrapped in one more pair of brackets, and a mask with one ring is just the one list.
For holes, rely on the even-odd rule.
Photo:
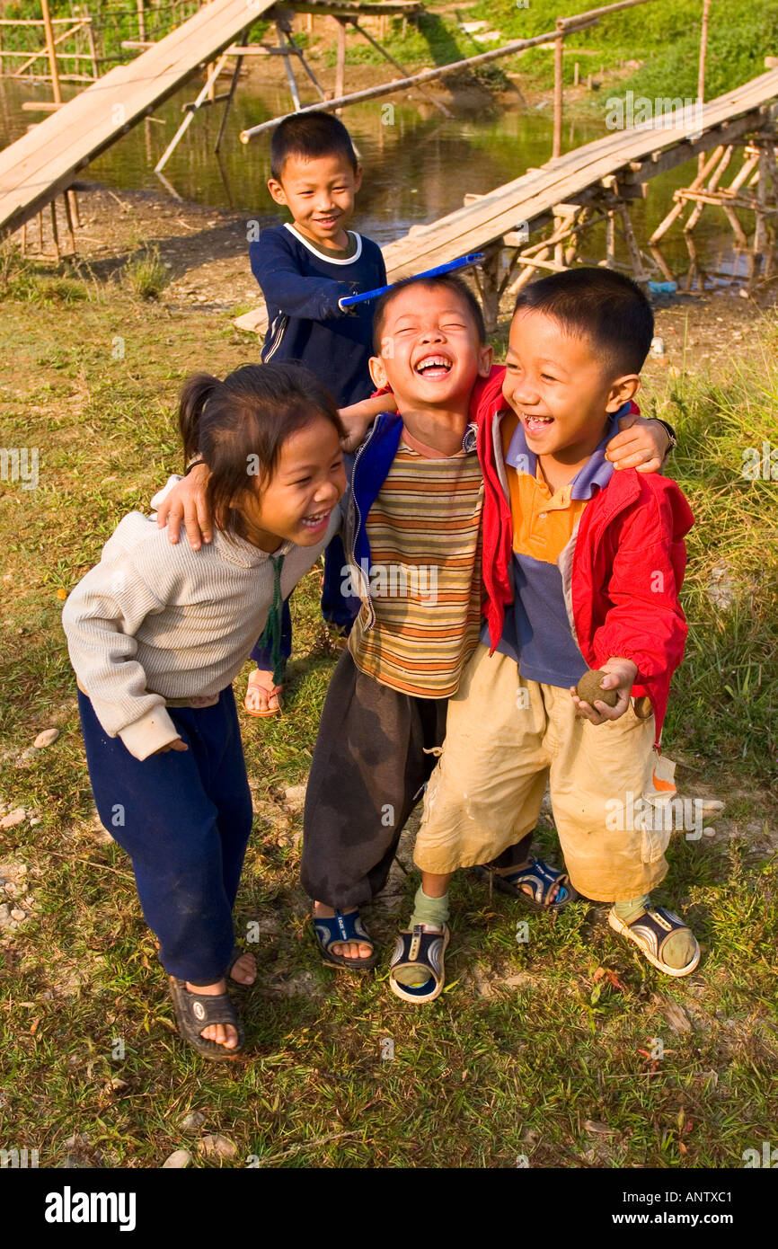
[[(637, 475), (636, 475), (637, 476)], [(632, 659), (641, 678), (676, 671), (688, 632), (678, 595), (686, 570), (684, 536), (694, 517), (674, 481), (637, 476), (639, 496), (621, 517), (607, 597), (612, 606), (596, 631), (597, 664)]]

